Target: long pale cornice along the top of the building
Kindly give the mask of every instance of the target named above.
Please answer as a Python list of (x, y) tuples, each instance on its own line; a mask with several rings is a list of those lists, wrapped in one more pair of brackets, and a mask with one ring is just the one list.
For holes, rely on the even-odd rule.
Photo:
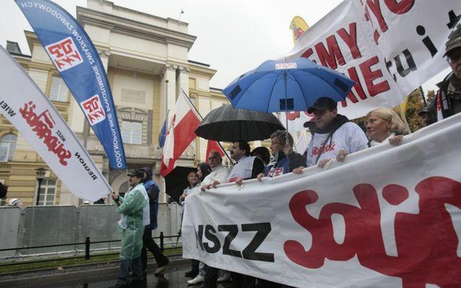
[(197, 38), (196, 36), (190, 34), (80, 6), (77, 6), (77, 19), (82, 25), (93, 25), (109, 29), (120, 34), (136, 36), (167, 44), (171, 43), (186, 47), (188, 51), (191, 49), (195, 39)]

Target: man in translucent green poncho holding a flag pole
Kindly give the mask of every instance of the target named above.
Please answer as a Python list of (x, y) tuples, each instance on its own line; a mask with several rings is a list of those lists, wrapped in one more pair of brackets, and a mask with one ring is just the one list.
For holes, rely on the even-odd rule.
[[(145, 214), (146, 207), (149, 208), (149, 198), (141, 182), (143, 172), (134, 170), (128, 176), (130, 186), (133, 188), (124, 197), (112, 194), (112, 199), (118, 205), (117, 212), (122, 214), (117, 223), (118, 230), (122, 234), (122, 248), (120, 249), (120, 271), (117, 283), (110, 288), (127, 288), (142, 281), (140, 256), (145, 225), (143, 220), (146, 221), (143, 214)], [(149, 215), (148, 211), (147, 215)]]

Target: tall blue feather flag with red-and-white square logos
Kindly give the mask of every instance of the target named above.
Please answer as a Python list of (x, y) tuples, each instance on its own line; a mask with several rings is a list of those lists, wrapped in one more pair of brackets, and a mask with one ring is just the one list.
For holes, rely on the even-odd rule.
[(48, 0), (15, 0), (71, 90), (106, 151), (112, 169), (126, 169), (117, 111), (106, 71), (88, 34)]

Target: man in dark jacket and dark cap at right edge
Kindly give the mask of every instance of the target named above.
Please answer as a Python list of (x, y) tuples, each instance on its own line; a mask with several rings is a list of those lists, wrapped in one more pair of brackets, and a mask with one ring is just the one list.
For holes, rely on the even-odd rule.
[(461, 24), (448, 37), (443, 56), (446, 56), (452, 72), (437, 84), (439, 91), (429, 104), (435, 121), (461, 112)]

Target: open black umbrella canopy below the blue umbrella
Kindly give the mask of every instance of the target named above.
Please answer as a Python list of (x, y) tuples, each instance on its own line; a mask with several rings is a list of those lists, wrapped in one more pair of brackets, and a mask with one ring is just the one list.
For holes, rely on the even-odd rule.
[(273, 114), (234, 109), (228, 104), (208, 113), (195, 134), (205, 139), (233, 142), (264, 140), (277, 130), (285, 128)]

